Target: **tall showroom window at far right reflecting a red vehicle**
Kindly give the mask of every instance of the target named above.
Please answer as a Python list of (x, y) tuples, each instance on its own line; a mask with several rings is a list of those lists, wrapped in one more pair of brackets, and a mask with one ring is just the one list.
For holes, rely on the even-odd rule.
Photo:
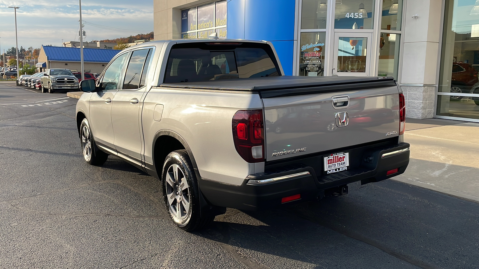
[(436, 115), (479, 121), (479, 1), (446, 0)]

